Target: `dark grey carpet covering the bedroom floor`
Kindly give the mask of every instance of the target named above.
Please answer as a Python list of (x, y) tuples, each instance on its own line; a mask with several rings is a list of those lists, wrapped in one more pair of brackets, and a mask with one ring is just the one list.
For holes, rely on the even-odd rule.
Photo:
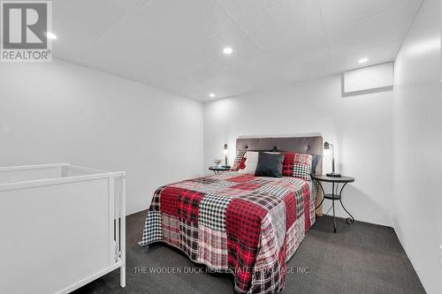
[[(119, 269), (74, 293), (232, 293), (232, 275), (206, 273), (151, 274), (149, 268), (179, 267), (205, 271), (184, 253), (157, 244), (141, 248), (146, 212), (127, 216), (127, 286), (119, 287)], [(424, 293), (407, 255), (392, 228), (319, 217), (287, 264), (284, 293)], [(134, 268), (147, 268), (135, 273)], [(304, 273), (302, 273), (304, 269)]]

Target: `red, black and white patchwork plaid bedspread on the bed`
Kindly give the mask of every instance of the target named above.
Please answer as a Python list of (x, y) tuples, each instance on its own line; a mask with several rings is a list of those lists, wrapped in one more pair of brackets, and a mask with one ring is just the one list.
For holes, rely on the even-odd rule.
[(231, 272), (240, 293), (278, 293), (286, 261), (315, 222), (311, 190), (299, 178), (235, 171), (165, 185), (155, 192), (141, 245), (163, 241), (211, 270)]

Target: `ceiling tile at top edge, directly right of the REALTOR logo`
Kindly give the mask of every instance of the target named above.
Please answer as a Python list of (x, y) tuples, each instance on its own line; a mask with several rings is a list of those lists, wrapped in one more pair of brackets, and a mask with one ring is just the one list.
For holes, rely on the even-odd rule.
[(122, 19), (126, 10), (107, 0), (52, 1), (55, 22), (65, 23), (83, 33), (101, 36)]

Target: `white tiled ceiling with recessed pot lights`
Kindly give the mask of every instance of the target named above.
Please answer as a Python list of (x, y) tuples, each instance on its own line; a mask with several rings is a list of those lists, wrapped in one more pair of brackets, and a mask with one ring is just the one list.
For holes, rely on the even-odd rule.
[(392, 61), (422, 2), (54, 0), (53, 52), (204, 102)]

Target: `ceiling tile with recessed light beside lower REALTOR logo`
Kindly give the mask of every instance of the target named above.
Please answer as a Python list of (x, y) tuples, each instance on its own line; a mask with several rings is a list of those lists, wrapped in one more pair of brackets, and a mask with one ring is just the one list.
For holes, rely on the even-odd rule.
[(95, 36), (80, 32), (60, 22), (52, 24), (52, 31), (57, 35), (57, 40), (52, 41), (53, 55), (65, 60), (80, 57), (98, 40)]

